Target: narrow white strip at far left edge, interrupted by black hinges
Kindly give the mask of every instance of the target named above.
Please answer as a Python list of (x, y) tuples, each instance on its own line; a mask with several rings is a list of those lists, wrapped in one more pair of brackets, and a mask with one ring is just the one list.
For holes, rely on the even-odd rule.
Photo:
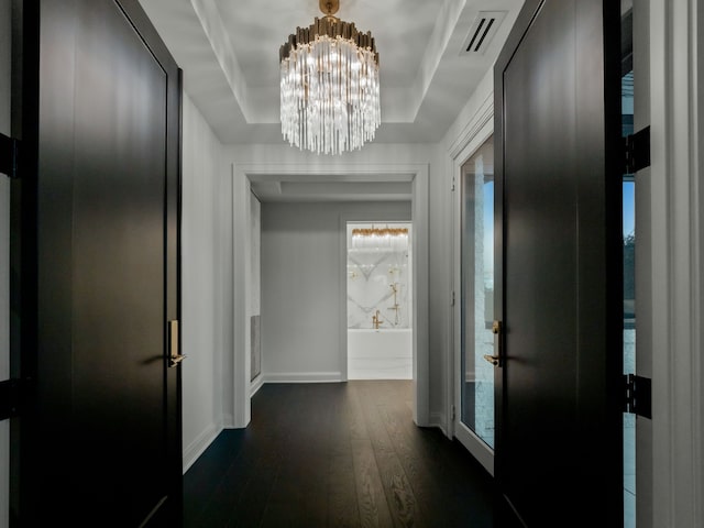
[[(0, 133), (10, 135), (10, 0), (0, 0)], [(10, 377), (10, 184), (0, 175), (0, 381)], [(8, 526), (10, 422), (0, 422), (0, 528)]]

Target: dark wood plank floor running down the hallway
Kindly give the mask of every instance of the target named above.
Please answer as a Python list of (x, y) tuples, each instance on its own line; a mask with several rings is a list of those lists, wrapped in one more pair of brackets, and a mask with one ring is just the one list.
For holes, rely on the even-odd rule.
[(508, 526), (490, 475), (410, 405), (406, 381), (265, 385), (186, 473), (185, 527)]

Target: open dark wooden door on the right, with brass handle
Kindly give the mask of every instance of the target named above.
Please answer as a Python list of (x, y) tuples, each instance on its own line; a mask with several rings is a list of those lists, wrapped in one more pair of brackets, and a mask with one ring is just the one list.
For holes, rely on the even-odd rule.
[(623, 524), (619, 4), (528, 0), (495, 69), (496, 475), (529, 527)]

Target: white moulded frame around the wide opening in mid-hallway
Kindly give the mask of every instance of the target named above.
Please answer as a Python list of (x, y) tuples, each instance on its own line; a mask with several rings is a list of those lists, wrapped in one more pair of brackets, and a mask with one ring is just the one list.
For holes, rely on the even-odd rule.
[[(428, 164), (233, 164), (232, 165), (232, 233), (233, 270), (246, 270), (250, 248), (246, 244), (249, 226), (250, 178), (282, 176), (319, 176), (321, 180), (367, 177), (374, 182), (397, 182), (399, 175), (411, 180), (413, 272), (414, 272), (414, 422), (430, 426), (430, 362), (429, 362), (429, 170)], [(250, 354), (246, 332), (246, 308), (250, 285), (245, 273), (233, 274), (233, 417), (228, 427), (244, 428), (251, 419)], [(346, 370), (346, 356), (345, 367)]]

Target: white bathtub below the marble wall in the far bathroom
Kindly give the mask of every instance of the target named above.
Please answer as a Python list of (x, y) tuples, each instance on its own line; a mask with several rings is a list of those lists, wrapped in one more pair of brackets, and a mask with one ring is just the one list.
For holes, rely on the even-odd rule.
[(413, 329), (349, 329), (348, 380), (413, 380)]

